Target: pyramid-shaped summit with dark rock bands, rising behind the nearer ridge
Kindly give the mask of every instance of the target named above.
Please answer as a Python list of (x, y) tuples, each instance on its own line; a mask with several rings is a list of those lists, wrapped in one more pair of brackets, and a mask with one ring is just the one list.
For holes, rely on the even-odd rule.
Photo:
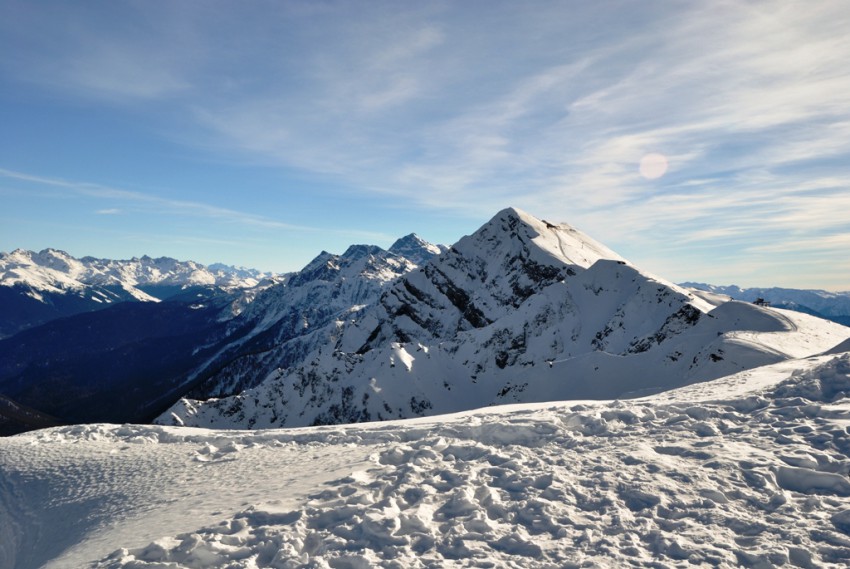
[[(600, 260), (625, 263), (569, 225), (504, 209), (384, 294), (381, 304), (389, 318), (382, 320), (393, 320), (394, 332), (387, 333), (384, 326), (373, 341), (385, 341), (393, 334), (397, 341), (423, 334), (440, 338), (490, 325)], [(443, 317), (433, 318), (436, 313)], [(406, 318), (396, 321), (391, 315)]]

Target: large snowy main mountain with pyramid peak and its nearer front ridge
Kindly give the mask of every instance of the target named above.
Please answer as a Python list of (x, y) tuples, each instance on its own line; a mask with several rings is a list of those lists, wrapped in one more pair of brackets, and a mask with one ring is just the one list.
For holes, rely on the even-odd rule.
[(346, 315), (300, 362), (237, 396), (181, 400), (158, 422), (298, 427), (635, 396), (850, 337), (804, 314), (718, 302), (507, 209)]

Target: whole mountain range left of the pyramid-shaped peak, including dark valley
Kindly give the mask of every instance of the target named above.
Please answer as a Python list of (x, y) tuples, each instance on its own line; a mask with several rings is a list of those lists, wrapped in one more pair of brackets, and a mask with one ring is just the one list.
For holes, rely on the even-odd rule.
[[(411, 234), (390, 251), (322, 252), (276, 276), (167, 258), (4, 254), (2, 322), (17, 333), (0, 340), (0, 394), (11, 402), (0, 405), (0, 434), (43, 426), (35, 413), (4, 409), (30, 407), (59, 422), (149, 422), (187, 391), (239, 393), (298, 346), (312, 348), (313, 330), (417, 266), (395, 251), (422, 262), (444, 249)], [(263, 367), (265, 352), (284, 356)]]

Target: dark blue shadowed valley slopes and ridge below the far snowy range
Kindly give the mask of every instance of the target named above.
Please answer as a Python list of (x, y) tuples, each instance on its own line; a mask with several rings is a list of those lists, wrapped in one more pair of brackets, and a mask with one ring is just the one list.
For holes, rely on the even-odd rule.
[[(435, 249), (417, 243), (423, 258)], [(159, 266), (171, 264), (166, 258)], [(160, 285), (168, 293), (160, 302), (116, 301), (0, 339), (0, 393), (64, 422), (148, 422), (187, 391), (210, 397), (253, 386), (275, 369), (257, 357), (281, 346), (289, 358), (312, 349), (341, 313), (368, 304), (415, 266), (380, 247), (352, 245), (251, 288)], [(77, 297), (50, 300), (66, 298)], [(244, 356), (251, 361), (243, 369)], [(37, 424), (8, 409), (6, 431)]]

